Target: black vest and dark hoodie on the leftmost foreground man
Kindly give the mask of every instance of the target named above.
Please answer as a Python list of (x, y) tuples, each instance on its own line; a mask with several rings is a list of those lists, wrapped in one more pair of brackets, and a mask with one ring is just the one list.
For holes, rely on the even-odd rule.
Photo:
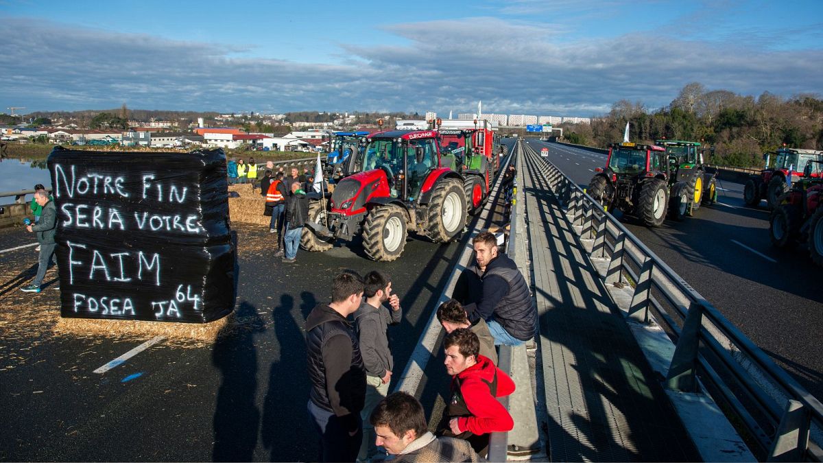
[(312, 309), (305, 330), (311, 401), (343, 419), (347, 430), (356, 430), (365, 402), (365, 367), (354, 330), (326, 304)]

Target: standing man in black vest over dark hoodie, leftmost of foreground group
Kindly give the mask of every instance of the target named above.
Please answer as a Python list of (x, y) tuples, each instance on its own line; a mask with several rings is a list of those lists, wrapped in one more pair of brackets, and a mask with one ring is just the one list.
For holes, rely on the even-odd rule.
[(309, 360), (309, 417), (320, 437), (319, 461), (355, 461), (363, 436), (365, 367), (360, 344), (346, 317), (360, 307), (365, 283), (355, 272), (337, 274), (332, 302), (319, 304), (306, 319)]

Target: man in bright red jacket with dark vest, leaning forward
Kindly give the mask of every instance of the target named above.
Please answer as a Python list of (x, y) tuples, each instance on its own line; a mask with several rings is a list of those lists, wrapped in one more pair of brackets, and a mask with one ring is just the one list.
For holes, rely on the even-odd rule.
[(496, 399), (514, 392), (514, 381), (479, 354), (480, 340), (472, 330), (453, 330), (446, 335), (444, 347), (446, 372), (452, 375), (452, 395), (438, 434), (466, 439), (485, 456), (489, 433), (514, 428), (511, 415)]

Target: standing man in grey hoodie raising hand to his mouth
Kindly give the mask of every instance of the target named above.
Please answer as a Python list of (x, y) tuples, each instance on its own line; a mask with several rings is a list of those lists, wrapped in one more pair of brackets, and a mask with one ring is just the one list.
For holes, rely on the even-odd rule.
[[(394, 360), (388, 348), (388, 325), (397, 325), (402, 318), (400, 298), (392, 294), (392, 282), (388, 275), (373, 270), (365, 275), (363, 302), (355, 312), (357, 338), (365, 364), (365, 405), (360, 413), (363, 419), (363, 442), (360, 444), (358, 461), (370, 460), (374, 447), (374, 426), (370, 424), (371, 411), (388, 394)], [(387, 308), (384, 303), (388, 302)]]

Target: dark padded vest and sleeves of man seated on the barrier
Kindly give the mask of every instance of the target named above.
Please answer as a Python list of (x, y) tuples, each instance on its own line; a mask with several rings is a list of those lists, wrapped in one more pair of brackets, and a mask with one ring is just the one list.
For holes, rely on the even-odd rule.
[(537, 307), (523, 274), (508, 255), (499, 254), (486, 266), (480, 302), (467, 304), (468, 319), (493, 318), (517, 339), (527, 341), (537, 334)]

